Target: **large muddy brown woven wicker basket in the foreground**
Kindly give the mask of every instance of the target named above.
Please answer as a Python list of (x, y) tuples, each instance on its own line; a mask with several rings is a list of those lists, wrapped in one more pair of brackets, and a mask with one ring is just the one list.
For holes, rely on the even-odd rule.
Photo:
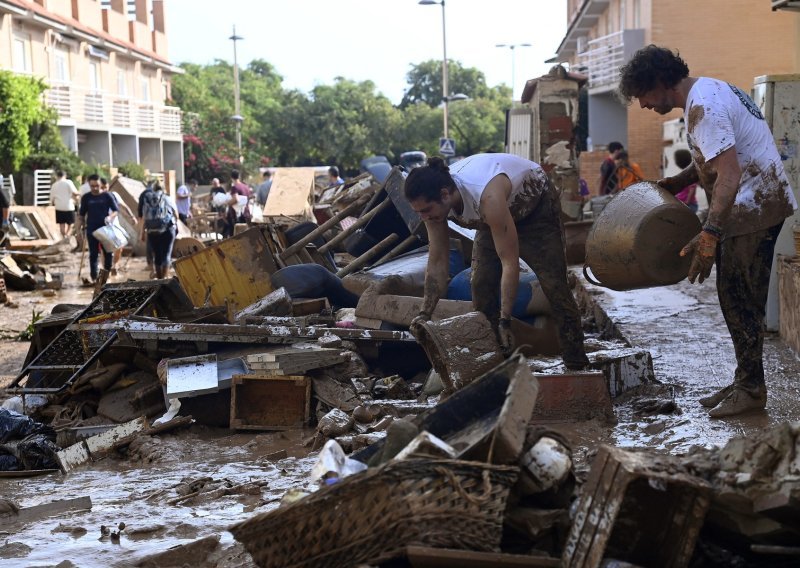
[(494, 551), (516, 467), (406, 460), (230, 529), (262, 568), (377, 563), (408, 545)]

